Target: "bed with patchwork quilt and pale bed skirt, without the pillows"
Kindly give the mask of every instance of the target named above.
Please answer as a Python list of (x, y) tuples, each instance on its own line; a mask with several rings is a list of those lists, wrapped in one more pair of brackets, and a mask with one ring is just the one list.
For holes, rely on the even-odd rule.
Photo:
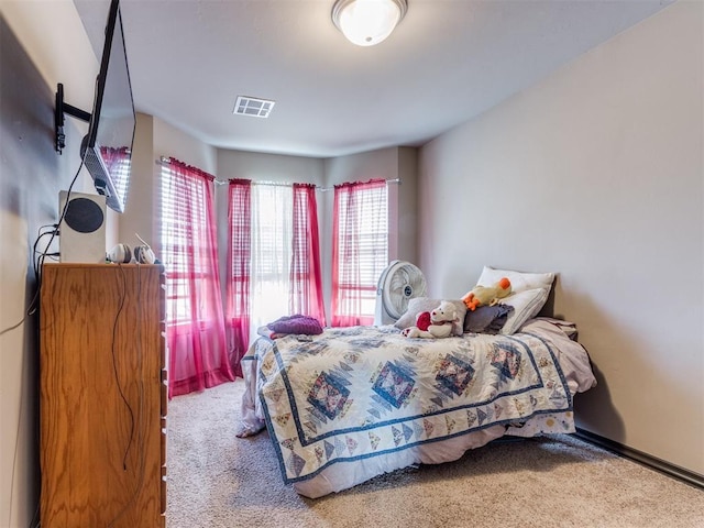
[(528, 317), (484, 333), (466, 319), (444, 339), (410, 339), (403, 321), (257, 339), (239, 436), (266, 428), (284, 481), (315, 498), (505, 435), (574, 432), (573, 396), (596, 383), (574, 324)]

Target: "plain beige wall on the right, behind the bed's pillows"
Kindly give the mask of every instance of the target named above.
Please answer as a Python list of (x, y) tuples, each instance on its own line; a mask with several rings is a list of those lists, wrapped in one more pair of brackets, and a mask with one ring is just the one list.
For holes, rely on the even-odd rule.
[(421, 150), (435, 295), (558, 272), (579, 425), (704, 474), (703, 4), (680, 1)]

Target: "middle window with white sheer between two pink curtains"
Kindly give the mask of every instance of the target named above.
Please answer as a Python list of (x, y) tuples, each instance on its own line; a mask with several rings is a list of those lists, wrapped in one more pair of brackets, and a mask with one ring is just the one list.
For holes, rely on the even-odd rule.
[(256, 330), (283, 316), (324, 324), (315, 186), (231, 179), (228, 218), (231, 353), (242, 358)]

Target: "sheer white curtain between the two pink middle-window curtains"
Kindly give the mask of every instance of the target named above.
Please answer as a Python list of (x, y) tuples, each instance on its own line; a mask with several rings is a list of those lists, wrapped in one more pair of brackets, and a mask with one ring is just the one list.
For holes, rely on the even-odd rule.
[(292, 218), (292, 187), (252, 186), (251, 338), (258, 327), (288, 315)]

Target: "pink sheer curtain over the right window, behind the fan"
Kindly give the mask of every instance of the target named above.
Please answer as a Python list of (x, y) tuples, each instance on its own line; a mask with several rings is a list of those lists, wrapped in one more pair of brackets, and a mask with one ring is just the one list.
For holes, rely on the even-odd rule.
[[(382, 193), (383, 190), (383, 193)], [(375, 272), (365, 262), (374, 252), (376, 226), (385, 218), (386, 207), (381, 198), (386, 197), (386, 182), (372, 179), (365, 183), (336, 185), (332, 226), (332, 315), (333, 327), (373, 324), (374, 312), (370, 305), (376, 295)], [(362, 224), (361, 220), (364, 221)], [(384, 246), (385, 251), (385, 246)], [(386, 253), (383, 255), (386, 260)]]

